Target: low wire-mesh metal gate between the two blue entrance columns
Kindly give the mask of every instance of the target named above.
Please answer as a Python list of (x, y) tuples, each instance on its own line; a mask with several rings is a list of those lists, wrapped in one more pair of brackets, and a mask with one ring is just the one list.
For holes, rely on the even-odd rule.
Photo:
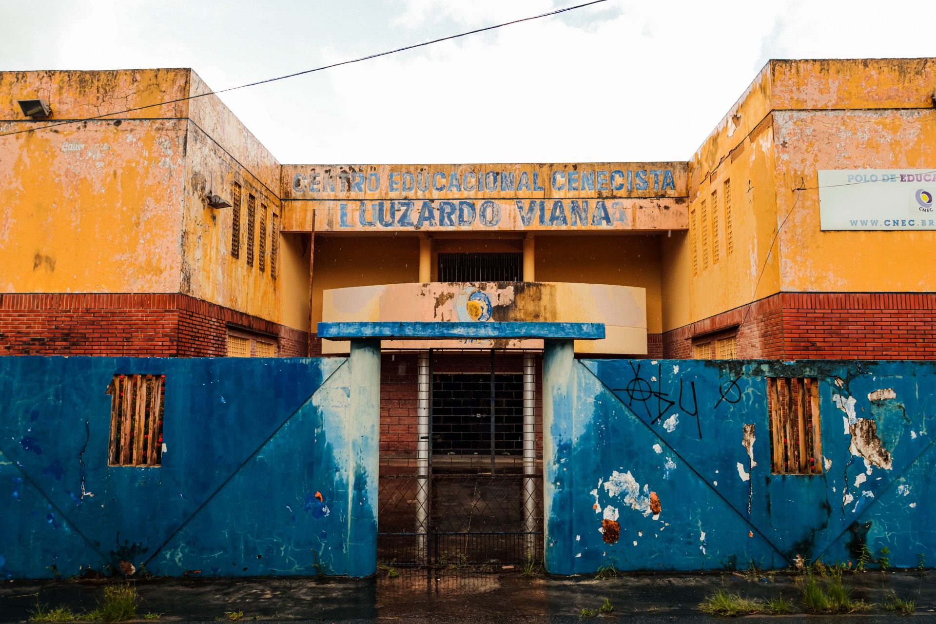
[(463, 567), (543, 559), (543, 476), (381, 475), (377, 559)]

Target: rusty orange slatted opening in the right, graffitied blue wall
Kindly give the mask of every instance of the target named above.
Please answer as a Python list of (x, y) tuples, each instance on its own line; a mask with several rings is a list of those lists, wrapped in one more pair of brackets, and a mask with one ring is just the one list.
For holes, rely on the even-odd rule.
[(770, 470), (821, 474), (819, 383), (810, 377), (768, 377)]

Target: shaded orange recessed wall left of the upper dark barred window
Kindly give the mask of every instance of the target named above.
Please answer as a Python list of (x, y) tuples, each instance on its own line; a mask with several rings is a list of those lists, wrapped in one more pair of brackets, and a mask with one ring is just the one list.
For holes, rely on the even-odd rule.
[(417, 282), (416, 237), (316, 236), (312, 281), (312, 320), (322, 320), (322, 291), (347, 286)]

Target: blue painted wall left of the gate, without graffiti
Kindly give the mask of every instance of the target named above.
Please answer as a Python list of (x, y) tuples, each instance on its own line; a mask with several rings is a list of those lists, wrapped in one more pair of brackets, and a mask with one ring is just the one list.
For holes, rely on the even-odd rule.
[[(171, 576), (373, 573), (375, 529), (351, 538), (375, 525), (376, 474), (360, 457), (377, 457), (363, 435), (374, 414), (360, 421), (352, 407), (352, 368), (0, 357), (0, 576), (110, 573), (121, 561)], [(166, 375), (161, 467), (108, 466), (115, 373)]]

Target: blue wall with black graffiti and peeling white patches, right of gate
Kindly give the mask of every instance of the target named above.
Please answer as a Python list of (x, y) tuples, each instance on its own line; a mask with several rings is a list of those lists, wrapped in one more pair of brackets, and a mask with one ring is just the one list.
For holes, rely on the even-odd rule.
[[(544, 366), (550, 573), (854, 565), (862, 544), (892, 566), (936, 561), (936, 364), (576, 360), (557, 341)], [(822, 474), (771, 474), (768, 376), (819, 379)], [(853, 445), (860, 419), (889, 467)]]

